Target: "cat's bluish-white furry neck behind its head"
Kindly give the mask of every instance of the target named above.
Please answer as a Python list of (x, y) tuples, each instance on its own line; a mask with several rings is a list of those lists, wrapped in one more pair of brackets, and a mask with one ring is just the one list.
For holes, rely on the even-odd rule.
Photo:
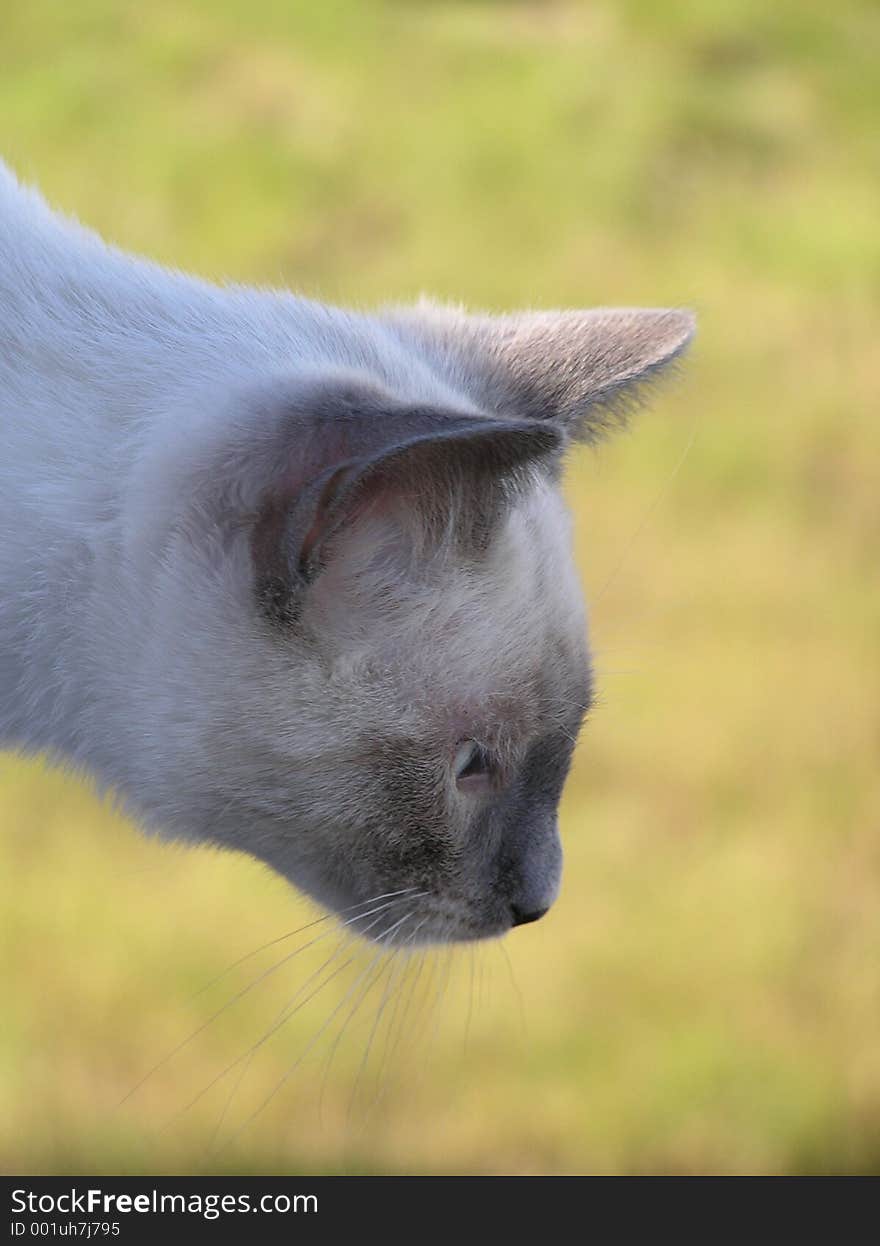
[(298, 313), (106, 245), (0, 163), (0, 743), (96, 769), (136, 623), (131, 475), (208, 379), (295, 356)]

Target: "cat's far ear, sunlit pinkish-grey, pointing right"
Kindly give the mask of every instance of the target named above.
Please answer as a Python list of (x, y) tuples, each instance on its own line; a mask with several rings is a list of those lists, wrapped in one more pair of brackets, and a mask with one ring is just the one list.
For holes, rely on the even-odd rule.
[(596, 308), (469, 315), (428, 302), (388, 323), (489, 411), (546, 420), (595, 441), (687, 349), (691, 312)]

